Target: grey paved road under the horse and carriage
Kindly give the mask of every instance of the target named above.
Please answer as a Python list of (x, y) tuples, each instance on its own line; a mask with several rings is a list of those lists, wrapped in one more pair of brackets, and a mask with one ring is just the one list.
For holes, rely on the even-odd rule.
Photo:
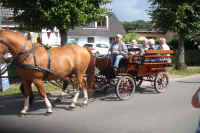
[(155, 94), (144, 84), (128, 101), (114, 95), (98, 97), (87, 108), (67, 111), (65, 101), (56, 104), (54, 113), (45, 116), (44, 103), (38, 99), (28, 115), (19, 117), (21, 96), (0, 99), (0, 129), (20, 133), (195, 133), (199, 110), (190, 102), (200, 86), (200, 75), (170, 82), (164, 94)]

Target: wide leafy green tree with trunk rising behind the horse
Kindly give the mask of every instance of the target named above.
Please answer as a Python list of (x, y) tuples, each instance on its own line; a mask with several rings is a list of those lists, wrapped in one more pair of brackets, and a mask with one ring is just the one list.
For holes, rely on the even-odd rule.
[(67, 31), (100, 19), (111, 0), (1, 0), (3, 7), (14, 10), (14, 21), (27, 30), (40, 31), (57, 27), (61, 44)]

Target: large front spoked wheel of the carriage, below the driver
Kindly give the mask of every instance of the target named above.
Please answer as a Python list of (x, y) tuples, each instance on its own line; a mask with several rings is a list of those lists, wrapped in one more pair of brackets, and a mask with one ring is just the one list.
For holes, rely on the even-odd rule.
[(123, 76), (118, 80), (116, 95), (120, 100), (129, 99), (135, 92), (135, 81), (130, 76)]

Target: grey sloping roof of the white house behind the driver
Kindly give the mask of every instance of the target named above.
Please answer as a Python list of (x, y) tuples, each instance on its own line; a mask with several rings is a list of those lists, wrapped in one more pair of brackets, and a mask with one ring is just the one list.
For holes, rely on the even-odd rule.
[(125, 34), (123, 25), (118, 21), (114, 13), (108, 13), (108, 28), (75, 27), (68, 31), (69, 36), (110, 36)]

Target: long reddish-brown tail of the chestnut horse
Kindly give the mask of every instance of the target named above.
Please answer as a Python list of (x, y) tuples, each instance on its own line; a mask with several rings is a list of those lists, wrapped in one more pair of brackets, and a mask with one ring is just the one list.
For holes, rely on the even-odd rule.
[(94, 93), (94, 82), (95, 82), (95, 56), (90, 53), (90, 63), (87, 69), (87, 86), (88, 86), (88, 94), (92, 96)]

